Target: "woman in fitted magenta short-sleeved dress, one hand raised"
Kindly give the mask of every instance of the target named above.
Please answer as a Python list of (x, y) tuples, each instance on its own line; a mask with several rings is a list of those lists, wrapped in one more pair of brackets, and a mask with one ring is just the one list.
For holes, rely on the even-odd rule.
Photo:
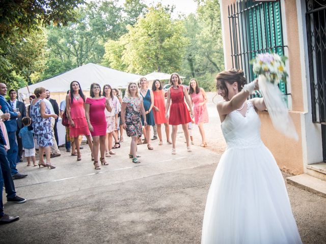
[(112, 108), (109, 100), (101, 96), (101, 87), (98, 83), (91, 84), (90, 96), (85, 102), (86, 121), (93, 138), (94, 167), (95, 169), (101, 169), (98, 164), (98, 148), (100, 149), (101, 164), (108, 165), (104, 158), (107, 128), (104, 109), (111, 112)]

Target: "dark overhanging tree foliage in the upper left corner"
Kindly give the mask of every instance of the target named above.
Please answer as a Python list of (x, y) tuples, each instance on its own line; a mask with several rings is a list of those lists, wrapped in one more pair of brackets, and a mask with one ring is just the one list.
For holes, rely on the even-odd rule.
[(58, 25), (73, 21), (74, 8), (80, 3), (84, 1), (1, 1), (0, 81), (17, 88), (15, 86), (21, 83), (21, 78), (18, 81), (17, 77), (29, 80), (33, 60), (41, 54), (41, 43), (38, 41), (42, 39), (35, 39), (40, 27), (51, 21)]

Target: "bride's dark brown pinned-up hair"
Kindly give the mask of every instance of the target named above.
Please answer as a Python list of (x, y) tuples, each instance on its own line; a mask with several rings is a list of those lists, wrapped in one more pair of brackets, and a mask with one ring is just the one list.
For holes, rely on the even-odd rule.
[(222, 83), (225, 88), (226, 96), (229, 95), (228, 87), (226, 86), (225, 82), (229, 84), (233, 84), (236, 82), (238, 84), (238, 92), (240, 92), (245, 84), (247, 84), (247, 79), (244, 78), (244, 73), (242, 70), (230, 69), (220, 72), (216, 75), (215, 82), (216, 82), (216, 89), (218, 88), (217, 82), (218, 80)]

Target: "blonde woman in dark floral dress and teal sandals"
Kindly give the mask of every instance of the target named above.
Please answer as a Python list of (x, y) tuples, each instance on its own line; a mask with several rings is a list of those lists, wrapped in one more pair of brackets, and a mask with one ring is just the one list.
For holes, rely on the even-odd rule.
[(121, 119), (123, 129), (126, 130), (127, 136), (131, 137), (130, 154), (133, 163), (140, 163), (137, 154), (137, 141), (142, 136), (142, 120), (144, 119), (144, 126), (146, 123), (146, 114), (143, 104), (143, 99), (139, 95), (138, 86), (136, 83), (131, 82), (128, 85), (127, 94), (122, 100), (121, 105)]

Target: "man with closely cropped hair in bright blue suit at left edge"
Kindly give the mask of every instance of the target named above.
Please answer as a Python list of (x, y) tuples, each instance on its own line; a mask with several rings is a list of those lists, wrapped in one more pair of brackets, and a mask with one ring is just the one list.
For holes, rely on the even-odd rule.
[(13, 179), (21, 179), (27, 176), (27, 174), (19, 174), (18, 170), (16, 169), (17, 163), (17, 153), (18, 153), (18, 146), (16, 143), (16, 131), (17, 131), (17, 121), (16, 118), (20, 116), (20, 112), (14, 112), (11, 105), (5, 99), (7, 95), (7, 86), (4, 83), (0, 83), (0, 106), (1, 110), (6, 113), (9, 111), (10, 113), (10, 120), (5, 121), (6, 129), (8, 132), (9, 144), (10, 149), (7, 151), (8, 154), (8, 161), (10, 163), (11, 168), (11, 175)]

